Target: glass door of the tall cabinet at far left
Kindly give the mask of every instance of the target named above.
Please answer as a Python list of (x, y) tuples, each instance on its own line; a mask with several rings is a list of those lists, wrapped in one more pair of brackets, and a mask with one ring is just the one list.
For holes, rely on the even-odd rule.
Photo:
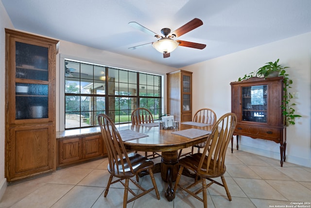
[(23, 42), (15, 45), (15, 119), (47, 118), (49, 48)]

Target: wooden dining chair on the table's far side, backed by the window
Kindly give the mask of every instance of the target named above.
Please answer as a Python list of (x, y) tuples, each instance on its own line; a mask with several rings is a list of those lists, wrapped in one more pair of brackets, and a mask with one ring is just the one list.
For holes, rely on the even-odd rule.
[[(131, 121), (132, 121), (132, 125), (154, 123), (154, 117), (152, 116), (152, 113), (148, 109), (137, 108), (132, 112)], [(145, 151), (145, 157), (156, 158), (160, 156), (161, 154), (157, 152), (152, 152), (152, 154), (148, 155), (148, 152)]]

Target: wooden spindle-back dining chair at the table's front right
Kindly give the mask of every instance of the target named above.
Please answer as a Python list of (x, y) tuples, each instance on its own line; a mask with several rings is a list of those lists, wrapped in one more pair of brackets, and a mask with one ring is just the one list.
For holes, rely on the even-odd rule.
[[(179, 160), (180, 168), (175, 182), (174, 192), (176, 192), (177, 187), (179, 187), (203, 202), (204, 208), (207, 208), (207, 188), (215, 183), (224, 187), (229, 201), (232, 200), (224, 177), (226, 170), (225, 153), (236, 124), (236, 114), (226, 113), (215, 122), (211, 133), (207, 137), (207, 144), (210, 144), (210, 146), (206, 145), (202, 153), (190, 154)], [(194, 172), (197, 176), (196, 180), (190, 185), (187, 184), (186, 187), (179, 184), (184, 169)], [(221, 177), (222, 183), (212, 179), (216, 177)], [(208, 184), (206, 184), (206, 179), (210, 181)], [(200, 183), (202, 183), (202, 188), (194, 188)], [(196, 190), (193, 190), (193, 188)], [(202, 191), (203, 199), (197, 195)]]

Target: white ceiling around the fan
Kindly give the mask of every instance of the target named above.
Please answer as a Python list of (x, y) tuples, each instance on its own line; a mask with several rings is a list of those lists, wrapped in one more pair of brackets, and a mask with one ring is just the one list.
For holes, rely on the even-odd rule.
[[(18, 30), (180, 68), (279, 39), (311, 32), (311, 0), (1, 0)], [(180, 40), (203, 43), (203, 50), (179, 46), (163, 58), (156, 40), (128, 25), (136, 21), (157, 34), (194, 18), (203, 25)]]

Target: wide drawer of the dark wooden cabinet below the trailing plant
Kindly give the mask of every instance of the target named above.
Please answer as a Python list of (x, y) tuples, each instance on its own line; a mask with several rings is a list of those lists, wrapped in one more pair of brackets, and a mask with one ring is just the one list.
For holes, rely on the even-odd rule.
[(237, 124), (234, 134), (279, 142), (282, 129)]

